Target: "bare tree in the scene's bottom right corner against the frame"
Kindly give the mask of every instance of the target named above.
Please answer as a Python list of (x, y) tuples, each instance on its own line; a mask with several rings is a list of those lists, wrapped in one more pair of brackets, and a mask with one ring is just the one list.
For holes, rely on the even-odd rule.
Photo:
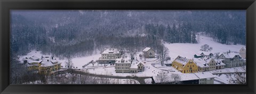
[[(231, 75), (229, 79), (229, 83), (234, 84), (246, 84), (246, 68), (245, 66), (241, 67), (240, 71), (238, 69), (235, 70), (234, 77)], [(241, 72), (245, 71), (245, 72)]]

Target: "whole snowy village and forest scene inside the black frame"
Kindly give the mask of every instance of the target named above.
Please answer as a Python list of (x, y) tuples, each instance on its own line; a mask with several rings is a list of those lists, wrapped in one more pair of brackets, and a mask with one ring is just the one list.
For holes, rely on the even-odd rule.
[[(13, 84), (246, 84), (250, 62), (246, 62), (245, 23), (240, 21), (243, 11), (209, 17), (222, 16), (225, 21), (219, 22), (201, 20), (197, 11), (170, 12), (167, 21), (161, 18), (168, 19), (164, 13), (169, 12), (161, 11), (154, 20), (147, 19), (154, 12), (146, 12), (153, 13), (148, 17), (142, 11), (65, 11), (54, 16), (55, 12), (45, 12), (55, 20), (26, 13), (34, 12), (17, 11), (12, 16)], [(195, 19), (177, 17), (185, 14)], [(76, 20), (83, 17), (92, 18)], [(44, 26), (30, 27), (20, 18)]]

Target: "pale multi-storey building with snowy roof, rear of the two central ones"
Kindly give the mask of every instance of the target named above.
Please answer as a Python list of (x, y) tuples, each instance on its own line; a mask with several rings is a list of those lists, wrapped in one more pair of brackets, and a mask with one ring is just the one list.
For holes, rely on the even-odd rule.
[(100, 64), (114, 64), (118, 58), (121, 58), (121, 53), (117, 49), (105, 49), (97, 62)]

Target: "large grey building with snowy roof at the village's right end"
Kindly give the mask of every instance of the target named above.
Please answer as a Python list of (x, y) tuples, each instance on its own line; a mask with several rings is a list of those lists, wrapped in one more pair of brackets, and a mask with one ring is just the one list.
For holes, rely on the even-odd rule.
[(238, 52), (225, 52), (222, 53), (218, 59), (226, 64), (226, 68), (240, 67), (245, 65), (244, 59)]

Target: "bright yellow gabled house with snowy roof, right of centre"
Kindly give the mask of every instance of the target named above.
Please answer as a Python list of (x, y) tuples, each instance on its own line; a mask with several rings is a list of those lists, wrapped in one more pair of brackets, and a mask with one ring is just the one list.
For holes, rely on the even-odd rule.
[(173, 62), (172, 67), (179, 70), (182, 73), (195, 73), (198, 70), (196, 63), (187, 58), (178, 56)]

